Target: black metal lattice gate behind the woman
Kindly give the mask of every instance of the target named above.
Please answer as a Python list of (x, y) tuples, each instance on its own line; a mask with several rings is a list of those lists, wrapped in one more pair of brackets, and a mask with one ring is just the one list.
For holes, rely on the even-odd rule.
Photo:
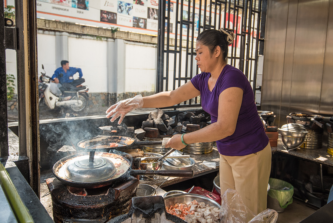
[[(235, 32), (227, 62), (244, 72), (255, 93), (266, 6), (267, 0), (161, 0), (157, 92), (173, 90), (198, 74), (194, 59), (196, 36), (203, 30), (223, 27)], [(191, 106), (200, 106), (200, 98), (173, 108)]]

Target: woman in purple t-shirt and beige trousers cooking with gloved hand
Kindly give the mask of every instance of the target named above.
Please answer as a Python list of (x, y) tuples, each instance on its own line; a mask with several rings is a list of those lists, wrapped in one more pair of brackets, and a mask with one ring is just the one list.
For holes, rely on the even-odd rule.
[(106, 117), (114, 115), (111, 122), (120, 117), (120, 124), (136, 108), (172, 106), (200, 95), (202, 108), (211, 115), (211, 125), (173, 135), (165, 147), (181, 150), (191, 143), (216, 141), (221, 194), (235, 189), (244, 204), (258, 214), (266, 209), (271, 149), (248, 79), (227, 64), (228, 45), (233, 39), (230, 29), (201, 32), (196, 39), (195, 60), (202, 73), (175, 90), (119, 101), (106, 111)]

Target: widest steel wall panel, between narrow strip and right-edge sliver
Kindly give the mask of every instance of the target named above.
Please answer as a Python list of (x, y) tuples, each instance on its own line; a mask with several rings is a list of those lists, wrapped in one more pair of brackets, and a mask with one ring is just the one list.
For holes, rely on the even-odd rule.
[(327, 0), (298, 2), (290, 92), (293, 112), (319, 113), (328, 8)]

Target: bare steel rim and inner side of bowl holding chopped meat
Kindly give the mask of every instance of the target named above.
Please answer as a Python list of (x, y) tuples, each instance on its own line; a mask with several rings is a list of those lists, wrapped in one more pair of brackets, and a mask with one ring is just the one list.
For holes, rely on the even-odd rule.
[(193, 200), (196, 200), (197, 202), (209, 204), (210, 207), (221, 208), (221, 205), (213, 199), (198, 194), (171, 194), (163, 197), (163, 199), (166, 207), (170, 207), (170, 205), (174, 205), (175, 203), (189, 204)]

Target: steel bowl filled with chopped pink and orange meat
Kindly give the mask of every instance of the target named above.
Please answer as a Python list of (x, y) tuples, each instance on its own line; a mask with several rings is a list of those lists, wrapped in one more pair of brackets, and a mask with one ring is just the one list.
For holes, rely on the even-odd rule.
[(221, 206), (214, 200), (198, 194), (171, 194), (164, 197), (166, 212), (188, 223), (220, 222)]

